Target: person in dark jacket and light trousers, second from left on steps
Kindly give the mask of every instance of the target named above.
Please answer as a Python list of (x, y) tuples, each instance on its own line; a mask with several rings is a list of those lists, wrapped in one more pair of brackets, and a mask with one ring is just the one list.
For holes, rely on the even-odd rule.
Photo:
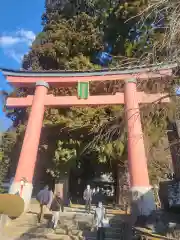
[(52, 228), (55, 229), (57, 227), (59, 217), (60, 217), (60, 210), (64, 212), (64, 203), (61, 198), (60, 192), (58, 192), (52, 203), (50, 210), (52, 211)]

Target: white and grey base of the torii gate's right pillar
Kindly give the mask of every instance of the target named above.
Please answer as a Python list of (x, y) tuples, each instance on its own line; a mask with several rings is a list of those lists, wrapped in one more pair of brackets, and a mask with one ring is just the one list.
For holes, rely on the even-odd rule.
[(156, 210), (152, 187), (133, 187), (132, 193), (132, 215), (149, 216)]

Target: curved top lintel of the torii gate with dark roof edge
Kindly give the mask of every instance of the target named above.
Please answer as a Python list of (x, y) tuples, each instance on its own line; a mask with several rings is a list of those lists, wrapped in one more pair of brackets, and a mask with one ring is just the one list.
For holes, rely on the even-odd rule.
[(137, 78), (139, 80), (156, 79), (169, 77), (172, 75), (172, 69), (177, 64), (159, 64), (151, 66), (131, 67), (119, 70), (98, 70), (98, 71), (24, 71), (1, 69), (6, 79), (16, 87), (35, 86), (37, 81), (45, 81), (51, 86), (74, 85), (79, 81), (107, 81)]

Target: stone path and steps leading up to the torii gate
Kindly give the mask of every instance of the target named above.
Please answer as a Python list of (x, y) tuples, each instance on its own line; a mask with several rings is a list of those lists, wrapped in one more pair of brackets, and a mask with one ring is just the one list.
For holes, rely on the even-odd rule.
[[(1, 240), (95, 240), (96, 233), (91, 232), (92, 214), (85, 214), (82, 209), (66, 209), (61, 213), (60, 226), (54, 232), (47, 228), (48, 219), (44, 219), (41, 224), (37, 223), (38, 204), (31, 204), (29, 212), (20, 218), (10, 222), (1, 234)], [(46, 217), (50, 212), (46, 211)], [(112, 226), (108, 228), (105, 240), (122, 240), (122, 221), (120, 216), (108, 214), (112, 221)], [(123, 234), (124, 235), (124, 234)]]

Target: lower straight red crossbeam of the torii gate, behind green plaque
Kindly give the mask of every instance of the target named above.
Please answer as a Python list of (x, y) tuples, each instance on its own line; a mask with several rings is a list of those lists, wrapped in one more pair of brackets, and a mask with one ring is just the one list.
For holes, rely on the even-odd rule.
[[(139, 103), (168, 103), (170, 98), (167, 94), (146, 94), (138, 92)], [(23, 98), (8, 98), (7, 107), (29, 107), (32, 105), (33, 96), (29, 95)], [(45, 106), (49, 107), (70, 107), (70, 106), (95, 106), (95, 105), (117, 105), (124, 104), (124, 93), (116, 93), (115, 95), (99, 95), (89, 96), (88, 99), (78, 99), (76, 96), (55, 97), (47, 95), (45, 98)]]

